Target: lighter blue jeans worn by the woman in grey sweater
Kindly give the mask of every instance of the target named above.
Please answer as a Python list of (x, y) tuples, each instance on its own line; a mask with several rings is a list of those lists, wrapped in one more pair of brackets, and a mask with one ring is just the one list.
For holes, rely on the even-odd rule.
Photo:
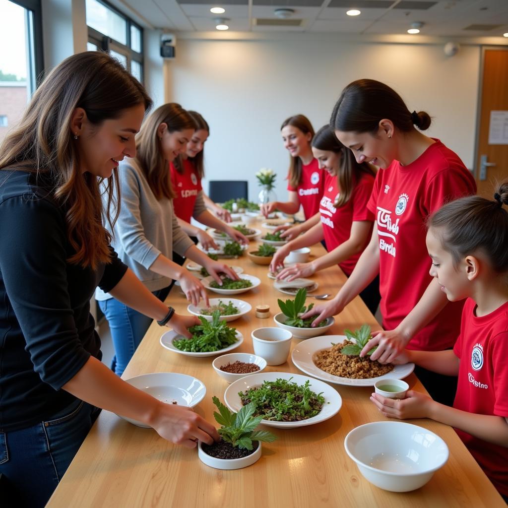
[[(164, 301), (169, 288), (154, 291), (159, 300)], [(152, 323), (151, 317), (132, 309), (115, 298), (100, 300), (99, 307), (108, 320), (111, 338), (115, 348), (115, 356), (111, 362), (111, 370), (118, 376), (123, 374), (125, 367), (131, 361), (148, 327)]]

